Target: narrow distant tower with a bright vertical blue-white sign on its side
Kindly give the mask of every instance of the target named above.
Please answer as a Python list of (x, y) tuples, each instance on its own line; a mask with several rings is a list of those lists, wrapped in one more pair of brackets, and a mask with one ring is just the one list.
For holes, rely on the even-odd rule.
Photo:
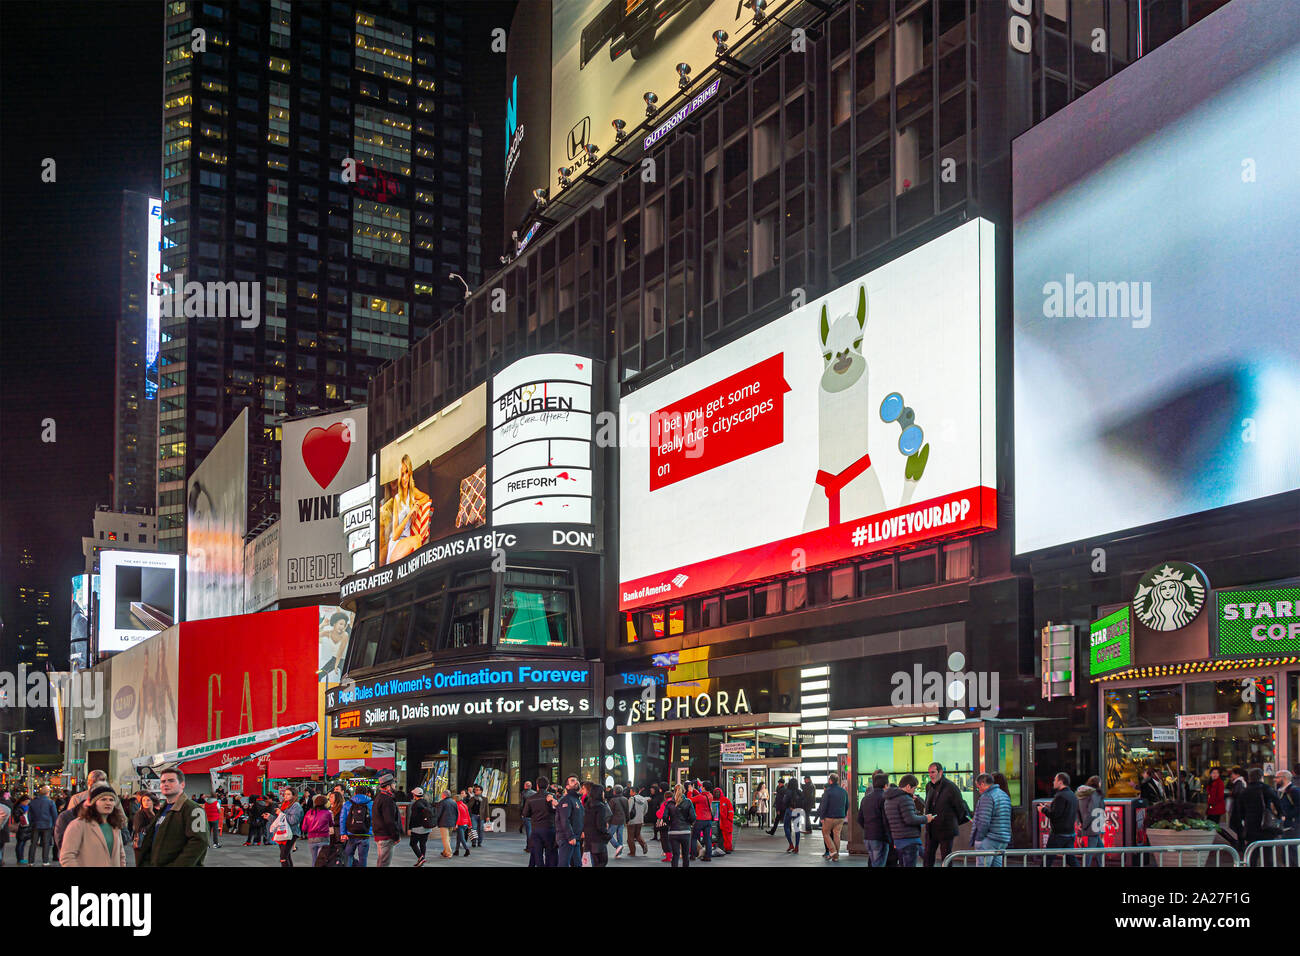
[(113, 395), (113, 509), (155, 507), (157, 446), (159, 272), (162, 203), (122, 191), (117, 356)]

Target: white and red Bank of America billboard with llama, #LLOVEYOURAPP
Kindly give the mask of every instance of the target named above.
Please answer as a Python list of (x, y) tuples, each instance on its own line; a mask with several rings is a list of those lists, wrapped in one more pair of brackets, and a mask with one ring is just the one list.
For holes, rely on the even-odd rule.
[(619, 606), (997, 527), (993, 226), (623, 399)]

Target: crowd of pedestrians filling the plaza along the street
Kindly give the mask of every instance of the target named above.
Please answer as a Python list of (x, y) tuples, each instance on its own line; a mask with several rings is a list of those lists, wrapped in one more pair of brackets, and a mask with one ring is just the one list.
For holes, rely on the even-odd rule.
[[(920, 782), (905, 774), (897, 783), (878, 770), (862, 797), (857, 821), (867, 845), (871, 866), (936, 866), (954, 851), (961, 827), (971, 823), (968, 848), (988, 851), (978, 856), (980, 866), (1000, 866), (1000, 851), (1011, 844), (1011, 799), (1002, 774), (975, 778), (975, 806), (945, 775), (941, 763), (931, 763), (924, 797)], [(1182, 784), (1182, 788), (1178, 788)], [(1162, 779), (1158, 771), (1143, 774), (1141, 797), (1148, 805), (1183, 800), (1186, 782)], [(395, 788), (385, 773), (372, 791), (359, 786), (352, 792), (334, 784), (328, 792), (283, 787), (276, 796), (255, 793), (231, 797), (220, 790), (191, 800), (185, 793), (185, 774), (164, 770), (160, 793), (121, 797), (103, 771), (92, 771), (84, 791), (52, 795), (48, 787), (35, 795), (0, 795), (0, 865), (5, 848), (16, 844), (20, 865), (126, 866), (127, 852), (135, 866), (199, 866), (209, 848), (220, 848), (224, 835), (243, 831), (244, 847), (276, 845), (281, 866), (294, 866), (294, 855), (306, 844), (303, 862), (311, 866), (367, 866), (370, 844), (377, 866), (389, 866), (403, 838), (415, 865), (424, 866), (430, 836), (437, 831), (441, 857), (468, 857), (484, 845), (491, 830), (493, 808), (481, 787), (425, 795), (416, 787), (408, 793)], [(1217, 823), (1238, 849), (1269, 839), (1300, 839), (1300, 784), (1279, 770), (1273, 786), (1261, 767), (1232, 767), (1226, 779), (1212, 767), (1204, 788), (1206, 818)], [(406, 805), (406, 814), (402, 812)], [(1096, 777), (1078, 788), (1069, 774), (1057, 774), (1053, 799), (1044, 810), (1048, 849), (1075, 847), (1083, 834), (1087, 847), (1101, 847), (1105, 834), (1104, 788)], [(753, 803), (741, 810), (742, 821), (770, 823), (768, 835), (783, 829), (786, 852), (798, 853), (801, 836), (811, 834), (815, 816), (822, 830), (823, 858), (840, 860), (849, 793), (836, 775), (828, 778), (818, 797), (812, 782), (802, 786), (790, 777), (770, 797), (759, 786)], [(734, 852), (736, 806), (711, 780), (667, 782), (636, 788), (606, 787), (569, 775), (563, 784), (546, 777), (524, 783), (519, 804), (520, 829), (529, 866), (607, 866), (628, 853), (651, 853), (658, 844), (660, 861), (672, 866), (711, 862)], [(965, 849), (966, 847), (961, 847)], [(438, 845), (434, 845), (438, 851)], [(1101, 865), (1100, 856), (1049, 856), (1048, 864)]]

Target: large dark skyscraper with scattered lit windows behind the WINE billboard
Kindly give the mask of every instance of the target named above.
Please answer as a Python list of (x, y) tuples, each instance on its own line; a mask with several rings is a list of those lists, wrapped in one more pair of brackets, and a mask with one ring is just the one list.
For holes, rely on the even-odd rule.
[(240, 408), (255, 527), (280, 418), (365, 401), (463, 298), (448, 274), (477, 284), (481, 191), (454, 7), (170, 0), (164, 30), (157, 535), (182, 551), (186, 476)]

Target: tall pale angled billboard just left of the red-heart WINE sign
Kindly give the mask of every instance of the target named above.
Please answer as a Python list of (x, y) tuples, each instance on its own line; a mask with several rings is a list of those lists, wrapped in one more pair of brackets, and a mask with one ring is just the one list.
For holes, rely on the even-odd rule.
[(243, 614), (248, 522), (248, 410), (239, 412), (186, 483), (187, 620)]

